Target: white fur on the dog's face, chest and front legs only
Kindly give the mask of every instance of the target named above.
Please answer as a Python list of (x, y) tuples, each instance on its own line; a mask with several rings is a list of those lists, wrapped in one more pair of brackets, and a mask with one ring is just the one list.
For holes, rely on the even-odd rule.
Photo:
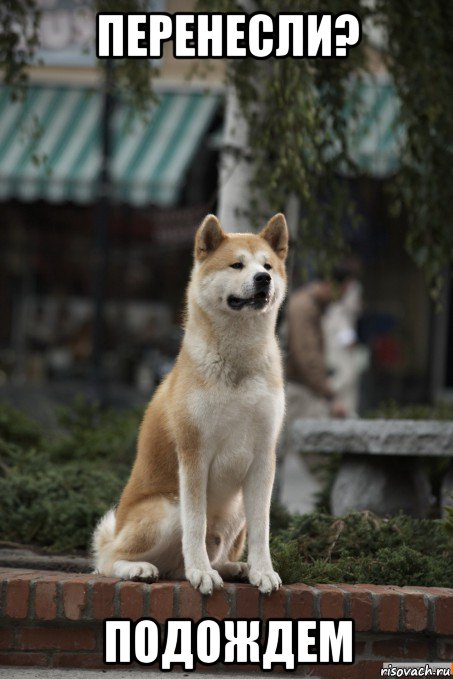
[(242, 270), (224, 269), (200, 281), (194, 277), (189, 288), (189, 307), (199, 304), (209, 314), (217, 341), (212, 344), (189, 316), (184, 346), (206, 381), (188, 401), (193, 422), (202, 433), (205, 475), (200, 477), (202, 500), (194, 502), (180, 470), (183, 553), (186, 576), (194, 587), (210, 592), (220, 586), (212, 571), (216, 562), (210, 561), (205, 546), (206, 526), (220, 509), (234, 516), (228, 508), (236, 503), (232, 521), (236, 531), (247, 516), (249, 579), (268, 593), (281, 584), (268, 543), (273, 455), (284, 416), (284, 394), (282, 388), (270, 386), (269, 374), (280, 362), (275, 322), (285, 284), (271, 271), (270, 302), (263, 310), (230, 309), (228, 296), (247, 297), (253, 290), (253, 276), (266, 271), (264, 251), (235, 254), (244, 264)]

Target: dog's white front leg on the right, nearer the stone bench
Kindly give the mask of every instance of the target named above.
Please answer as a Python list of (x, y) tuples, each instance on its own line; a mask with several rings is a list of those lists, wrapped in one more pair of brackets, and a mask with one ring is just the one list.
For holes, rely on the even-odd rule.
[(269, 551), (269, 512), (275, 475), (275, 450), (255, 454), (244, 483), (247, 519), (249, 581), (269, 594), (282, 584)]

